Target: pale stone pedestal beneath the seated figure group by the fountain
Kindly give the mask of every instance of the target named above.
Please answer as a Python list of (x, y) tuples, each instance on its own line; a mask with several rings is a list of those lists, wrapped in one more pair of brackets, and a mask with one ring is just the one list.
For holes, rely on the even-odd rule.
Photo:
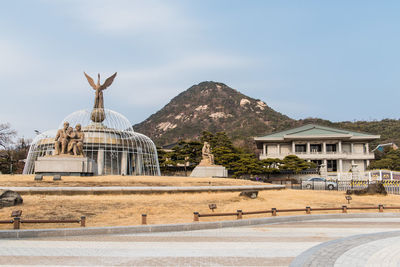
[(92, 159), (81, 156), (59, 155), (39, 157), (35, 161), (35, 174), (91, 176), (97, 173)]

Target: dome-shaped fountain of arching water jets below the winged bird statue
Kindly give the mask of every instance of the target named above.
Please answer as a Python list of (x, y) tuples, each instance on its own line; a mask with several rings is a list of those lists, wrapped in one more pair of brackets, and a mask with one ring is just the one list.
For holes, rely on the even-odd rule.
[[(65, 117), (64, 122), (82, 126), (83, 151), (94, 161), (94, 175), (160, 175), (157, 149), (153, 141), (132, 129), (129, 120), (109, 109), (79, 110)], [(100, 119), (93, 119), (94, 116)], [(46, 131), (33, 140), (24, 174), (35, 173), (38, 157), (54, 155), (57, 130)]]

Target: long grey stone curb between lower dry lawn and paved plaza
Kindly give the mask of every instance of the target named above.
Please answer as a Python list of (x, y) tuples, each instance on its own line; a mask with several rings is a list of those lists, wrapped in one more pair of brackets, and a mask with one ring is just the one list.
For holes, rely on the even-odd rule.
[(106, 234), (134, 234), (152, 232), (178, 232), (205, 229), (218, 229), (225, 227), (239, 227), (251, 225), (265, 225), (288, 222), (302, 222), (325, 219), (350, 219), (350, 218), (382, 218), (400, 217), (399, 213), (354, 213), (354, 214), (318, 214), (298, 215), (283, 217), (268, 217), (258, 219), (219, 221), (219, 222), (198, 222), (182, 224), (156, 224), (138, 226), (117, 226), (117, 227), (87, 227), (87, 228), (62, 228), (62, 229), (30, 229), (30, 230), (2, 230), (0, 238), (32, 238), (32, 237), (54, 237), (54, 236), (78, 236), (78, 235), (106, 235)]

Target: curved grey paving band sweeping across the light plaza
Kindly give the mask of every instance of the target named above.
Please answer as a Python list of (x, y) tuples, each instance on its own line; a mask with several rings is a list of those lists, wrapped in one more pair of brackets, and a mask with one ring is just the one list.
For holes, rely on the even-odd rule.
[(400, 231), (354, 235), (331, 240), (304, 251), (292, 261), (290, 266), (334, 266), (343, 253), (354, 247), (396, 236), (400, 236)]

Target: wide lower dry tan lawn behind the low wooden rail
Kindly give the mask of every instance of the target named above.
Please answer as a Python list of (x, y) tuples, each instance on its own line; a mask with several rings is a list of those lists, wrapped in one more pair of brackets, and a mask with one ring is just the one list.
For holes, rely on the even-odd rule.
[[(143, 179), (143, 178), (137, 178)], [(162, 178), (160, 178), (162, 180)], [(213, 180), (214, 181), (214, 180)], [(155, 182), (160, 183), (160, 181)], [(348, 206), (400, 206), (399, 195), (352, 196)], [(338, 191), (273, 190), (260, 191), (256, 199), (239, 197), (239, 192), (226, 193), (180, 193), (180, 194), (132, 194), (132, 195), (23, 195), (20, 206), (0, 209), (0, 220), (10, 219), (11, 211), (22, 210), (25, 219), (78, 219), (87, 217), (87, 226), (138, 225), (141, 214), (146, 213), (149, 224), (188, 223), (193, 212), (211, 213), (208, 204), (215, 203), (215, 212), (270, 210), (271, 208), (341, 207), (347, 205), (345, 193)], [(374, 210), (376, 212), (377, 210)], [(400, 210), (391, 210), (399, 212)], [(330, 211), (340, 212), (340, 211)], [(354, 211), (368, 212), (368, 211)], [(372, 212), (372, 211), (369, 211)], [(314, 213), (314, 212), (313, 212)], [(328, 213), (318, 211), (315, 213)], [(287, 216), (297, 213), (278, 213)], [(271, 214), (245, 215), (243, 218), (269, 217)], [(200, 221), (231, 220), (235, 216), (200, 218)], [(78, 224), (22, 224), (22, 229), (78, 227)], [(11, 224), (0, 224), (0, 229), (11, 229)]]

